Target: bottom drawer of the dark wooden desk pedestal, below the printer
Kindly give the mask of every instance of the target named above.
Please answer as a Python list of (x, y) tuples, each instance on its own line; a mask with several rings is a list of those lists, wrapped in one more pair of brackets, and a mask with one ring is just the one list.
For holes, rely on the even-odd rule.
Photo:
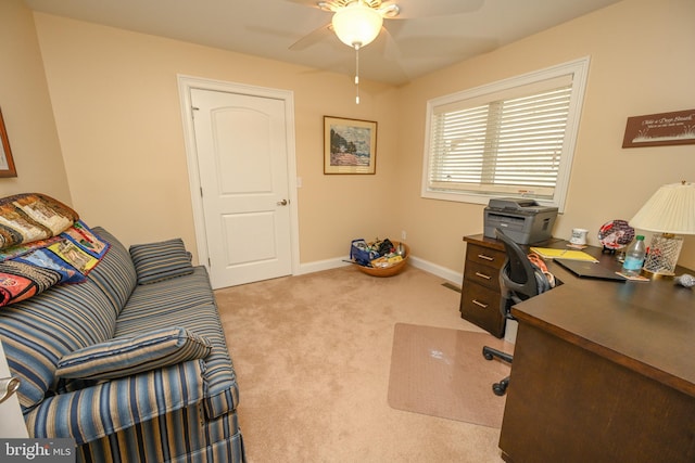
[(460, 296), (460, 316), (469, 322), (504, 336), (504, 317), (500, 312), (500, 293), (470, 281), (464, 281)]

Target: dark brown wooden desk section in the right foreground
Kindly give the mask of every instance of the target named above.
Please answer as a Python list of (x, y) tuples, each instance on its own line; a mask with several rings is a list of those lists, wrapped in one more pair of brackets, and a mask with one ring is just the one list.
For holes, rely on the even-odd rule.
[(564, 284), (511, 309), (504, 460), (695, 462), (695, 291), (548, 269)]

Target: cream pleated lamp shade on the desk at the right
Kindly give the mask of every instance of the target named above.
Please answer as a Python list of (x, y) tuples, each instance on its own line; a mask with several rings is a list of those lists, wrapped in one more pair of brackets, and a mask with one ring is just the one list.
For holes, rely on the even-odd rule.
[(695, 183), (661, 187), (634, 215), (636, 229), (672, 234), (695, 234)]

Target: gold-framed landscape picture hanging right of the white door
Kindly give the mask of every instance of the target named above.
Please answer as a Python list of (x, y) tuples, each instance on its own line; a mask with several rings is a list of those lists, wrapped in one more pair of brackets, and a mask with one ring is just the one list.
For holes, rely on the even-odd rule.
[(324, 116), (324, 173), (376, 173), (377, 123)]

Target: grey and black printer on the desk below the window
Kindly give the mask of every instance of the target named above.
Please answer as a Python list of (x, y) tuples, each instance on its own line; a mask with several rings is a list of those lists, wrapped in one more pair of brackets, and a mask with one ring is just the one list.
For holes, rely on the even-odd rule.
[(557, 207), (541, 206), (533, 200), (491, 198), (485, 207), (484, 236), (496, 237), (501, 229), (518, 244), (532, 244), (548, 240), (557, 218)]

